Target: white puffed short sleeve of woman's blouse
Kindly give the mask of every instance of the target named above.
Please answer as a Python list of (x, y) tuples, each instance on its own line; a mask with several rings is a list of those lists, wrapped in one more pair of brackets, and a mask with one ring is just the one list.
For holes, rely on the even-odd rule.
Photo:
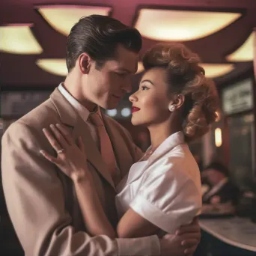
[(192, 222), (201, 210), (201, 187), (196, 180), (199, 171), (195, 167), (195, 177), (192, 177), (191, 171), (184, 171), (187, 166), (183, 162), (170, 157), (157, 167), (147, 169), (141, 187), (129, 205), (168, 234), (174, 234), (180, 225)]

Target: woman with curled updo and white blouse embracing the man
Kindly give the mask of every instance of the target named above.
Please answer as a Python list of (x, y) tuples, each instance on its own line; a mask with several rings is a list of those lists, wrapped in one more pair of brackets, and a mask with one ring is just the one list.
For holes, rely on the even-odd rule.
[[(174, 234), (201, 209), (198, 165), (186, 141), (204, 135), (216, 120), (218, 97), (198, 65), (198, 55), (180, 44), (153, 46), (143, 58), (145, 73), (132, 102), (132, 124), (149, 129), (151, 146), (118, 184), (120, 221), (110, 225), (94, 189), (82, 140), (52, 129), (64, 147), (58, 158), (42, 152), (73, 180), (82, 214), (92, 235), (144, 237)], [(49, 136), (46, 133), (46, 137)]]

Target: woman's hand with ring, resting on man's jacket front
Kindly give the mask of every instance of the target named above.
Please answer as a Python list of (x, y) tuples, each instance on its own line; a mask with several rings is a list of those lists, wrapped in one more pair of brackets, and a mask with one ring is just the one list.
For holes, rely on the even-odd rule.
[(40, 150), (40, 153), (46, 159), (57, 165), (64, 174), (67, 174), (74, 181), (81, 178), (91, 178), (88, 171), (85, 146), (81, 137), (79, 137), (77, 146), (69, 130), (61, 124), (51, 124), (50, 129), (43, 129), (43, 133), (58, 153), (58, 156), (54, 157), (46, 153), (45, 150)]

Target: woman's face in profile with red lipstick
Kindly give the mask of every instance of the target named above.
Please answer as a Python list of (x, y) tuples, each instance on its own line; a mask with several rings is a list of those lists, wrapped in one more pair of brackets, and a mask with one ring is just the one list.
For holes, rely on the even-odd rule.
[(132, 124), (149, 127), (167, 121), (171, 112), (166, 73), (163, 68), (147, 70), (141, 79), (138, 91), (129, 97), (132, 102)]

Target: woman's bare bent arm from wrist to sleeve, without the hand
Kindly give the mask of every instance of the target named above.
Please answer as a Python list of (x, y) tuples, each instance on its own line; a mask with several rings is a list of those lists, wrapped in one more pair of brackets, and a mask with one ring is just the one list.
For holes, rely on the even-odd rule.
[(106, 234), (108, 237), (147, 237), (159, 230), (134, 210), (129, 209), (118, 223), (117, 232), (109, 223), (91, 178), (73, 176), (76, 195), (88, 231), (92, 235)]

